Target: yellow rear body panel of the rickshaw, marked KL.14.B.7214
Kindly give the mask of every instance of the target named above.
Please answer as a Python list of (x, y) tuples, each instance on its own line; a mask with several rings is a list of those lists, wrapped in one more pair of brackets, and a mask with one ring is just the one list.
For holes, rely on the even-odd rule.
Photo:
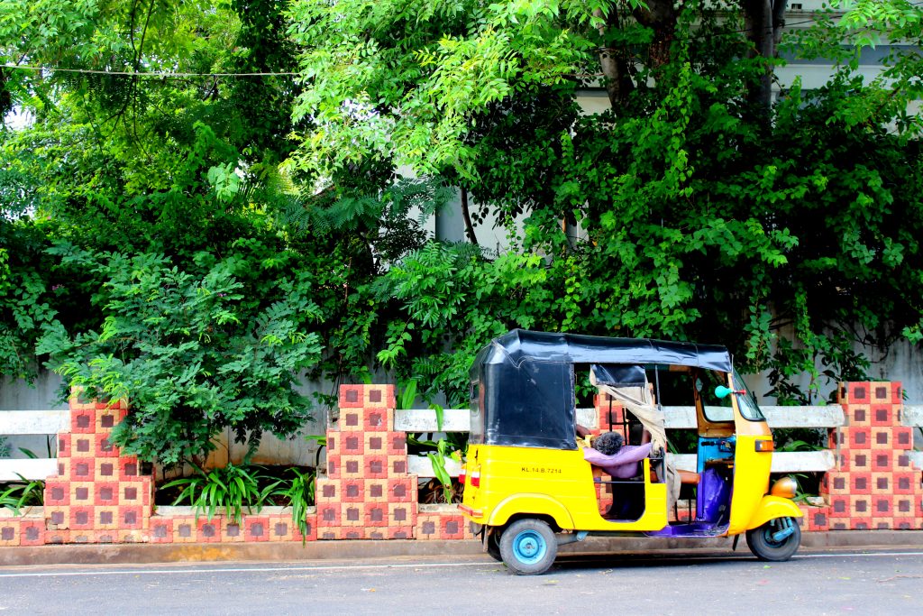
[[(593, 468), (580, 450), (472, 445), (463, 505), (474, 523), (504, 525), (520, 513), (547, 515), (568, 530), (653, 531), (666, 525), (666, 486), (650, 482), (644, 460), (647, 508), (634, 522), (609, 522), (599, 513)], [(471, 477), (480, 476), (474, 487)], [(618, 489), (614, 485), (613, 489)]]

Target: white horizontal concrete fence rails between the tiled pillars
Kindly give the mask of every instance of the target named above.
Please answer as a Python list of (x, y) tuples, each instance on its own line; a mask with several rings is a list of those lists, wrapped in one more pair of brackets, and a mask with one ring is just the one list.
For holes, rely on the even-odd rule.
[[(770, 428), (822, 428), (832, 429), (845, 425), (843, 409), (829, 406), (763, 406)], [(666, 406), (664, 408), (667, 429), (694, 429), (696, 427), (693, 406)], [(0, 411), (0, 435), (56, 435), (69, 425), (68, 410), (55, 411)], [(596, 410), (577, 409), (577, 420), (581, 426), (596, 427)], [(437, 424), (436, 412), (432, 409), (398, 410), (394, 415), (394, 429), (406, 432), (467, 432), (470, 428), (469, 411), (446, 409), (443, 411), (441, 429)], [(923, 426), (923, 405), (903, 407), (902, 419), (905, 426)], [(696, 468), (694, 453), (669, 454), (677, 468)], [(911, 453), (913, 462), (923, 466), (923, 452)], [(285, 462), (280, 460), (280, 462)], [(776, 452), (773, 453), (773, 473), (825, 472), (835, 465), (834, 452)], [(408, 470), (419, 477), (432, 477), (433, 469), (426, 456), (411, 456)], [(450, 476), (458, 477), (460, 465), (446, 460)], [(57, 472), (54, 458), (0, 459), (0, 481), (17, 481), (20, 477), (43, 479)]]

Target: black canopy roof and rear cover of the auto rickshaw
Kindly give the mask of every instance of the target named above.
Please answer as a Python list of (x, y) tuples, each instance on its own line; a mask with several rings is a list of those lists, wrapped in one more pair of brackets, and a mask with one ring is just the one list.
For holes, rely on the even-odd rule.
[(471, 368), (471, 442), (576, 449), (574, 364), (731, 371), (723, 346), (513, 330)]

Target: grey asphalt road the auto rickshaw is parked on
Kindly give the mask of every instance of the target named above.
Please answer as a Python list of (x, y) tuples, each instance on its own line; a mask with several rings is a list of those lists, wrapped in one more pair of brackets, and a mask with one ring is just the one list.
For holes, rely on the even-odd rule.
[[(746, 550), (746, 548), (744, 548)], [(923, 551), (560, 557), (519, 577), (488, 557), (0, 569), (10, 614), (914, 614)]]

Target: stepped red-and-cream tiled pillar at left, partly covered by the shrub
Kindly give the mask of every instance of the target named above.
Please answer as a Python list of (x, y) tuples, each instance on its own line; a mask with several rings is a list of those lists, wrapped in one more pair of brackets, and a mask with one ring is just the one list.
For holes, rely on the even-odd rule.
[(153, 479), (138, 458), (109, 442), (126, 417), (126, 401), (70, 401), (70, 427), (58, 434), (58, 472), (45, 482), (45, 542), (129, 543), (148, 540)]

